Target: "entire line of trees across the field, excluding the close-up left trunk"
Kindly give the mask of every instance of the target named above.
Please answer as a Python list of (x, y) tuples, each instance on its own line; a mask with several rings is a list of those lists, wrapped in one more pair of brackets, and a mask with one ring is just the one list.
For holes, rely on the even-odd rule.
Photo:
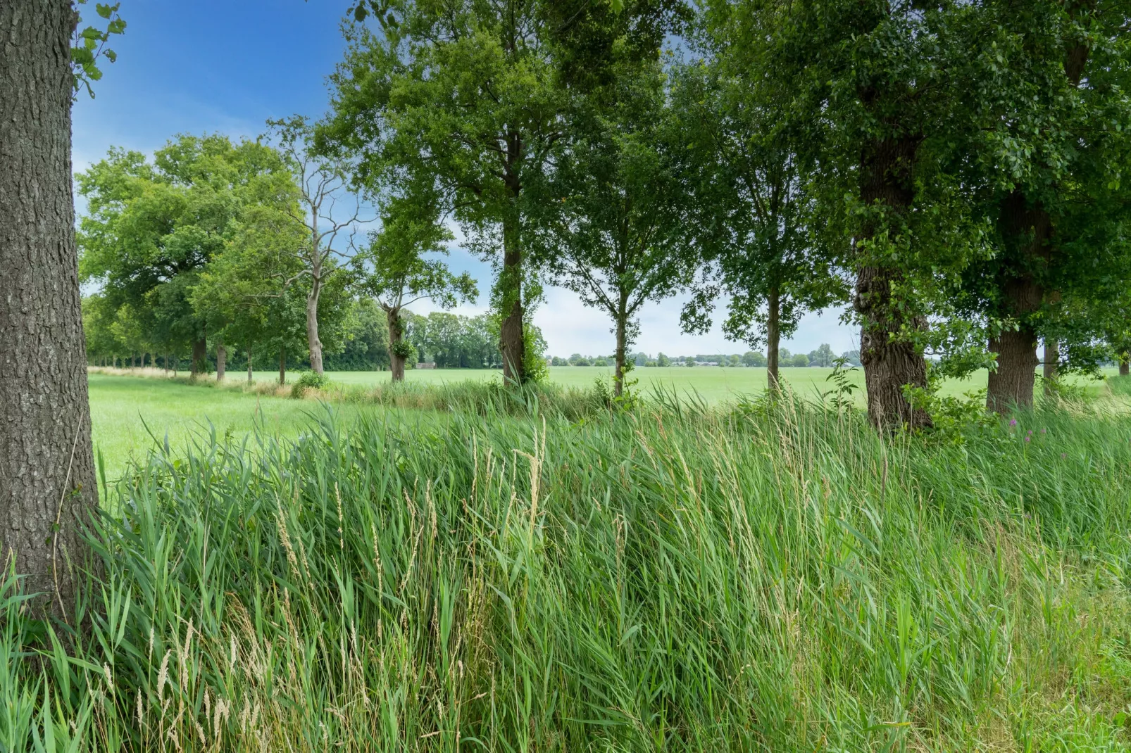
[[(774, 389), (801, 314), (851, 303), (878, 426), (930, 424), (930, 378), (979, 366), (991, 408), (1031, 404), (1041, 340), (1050, 379), (1128, 348), (1115, 0), (363, 7), (321, 123), (182, 137), (152, 165), (114, 152), (79, 178), (81, 269), (121, 321), (193, 362), (215, 332), (222, 362), (230, 341), (296, 347), (280, 323), (302, 298), (321, 372), (363, 297), (399, 379), (404, 308), (476, 295), (439, 258), (457, 224), (498, 270), (518, 382), (544, 366), (528, 314), (547, 280), (610, 315), (618, 391), (646, 301), (690, 292), (688, 331), (726, 301)], [(330, 207), (359, 194), (380, 225), (336, 244), (363, 218)]]

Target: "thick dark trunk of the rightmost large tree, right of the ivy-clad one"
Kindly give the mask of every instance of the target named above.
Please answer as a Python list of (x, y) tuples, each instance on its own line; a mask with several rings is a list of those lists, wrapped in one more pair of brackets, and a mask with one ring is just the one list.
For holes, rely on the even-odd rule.
[(1012, 406), (1033, 406), (1033, 386), (1041, 363), (1033, 315), (1044, 301), (1037, 276), (1048, 262), (1052, 220), (1039, 204), (1029, 206), (1021, 192), (1012, 191), (1002, 201), (1000, 227), (1004, 241), (998, 272), (1001, 309), (1017, 320), (1017, 327), (990, 340), (990, 350), (998, 354), (998, 367), (990, 372), (986, 407), (1005, 413)]

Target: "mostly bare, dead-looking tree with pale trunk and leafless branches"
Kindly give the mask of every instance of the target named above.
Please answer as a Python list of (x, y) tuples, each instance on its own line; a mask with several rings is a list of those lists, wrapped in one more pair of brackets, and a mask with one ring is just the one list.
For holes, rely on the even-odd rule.
[(296, 204), (285, 204), (286, 216), (293, 220), (302, 234), (301, 242), (285, 250), (299, 269), (284, 282), (284, 286), (304, 280), (307, 287), (307, 348), (310, 367), (322, 373), (322, 341), (319, 337), (319, 297), (323, 287), (340, 269), (335, 259), (346, 256), (335, 249), (338, 234), (353, 227), (361, 217), (361, 202), (353, 197), (352, 210), (336, 217), (338, 201), (346, 193), (346, 181), (352, 164), (326, 155), (312, 148), (313, 129), (305, 118), (293, 115), (284, 120), (268, 121), (271, 136), (278, 144), (286, 165), (294, 175)]

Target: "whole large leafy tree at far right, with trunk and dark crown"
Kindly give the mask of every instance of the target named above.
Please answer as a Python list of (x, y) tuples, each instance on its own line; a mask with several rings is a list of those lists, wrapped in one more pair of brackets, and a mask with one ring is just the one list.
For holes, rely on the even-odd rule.
[(1046, 374), (1063, 349), (1090, 361), (1107, 312), (1131, 276), (1126, 181), (1131, 138), (1131, 55), (1126, 7), (1115, 2), (991, 0), (978, 17), (976, 59), (985, 87), (967, 148), (981, 170), (977, 200), (993, 226), (995, 253), (968, 275), (990, 323), (987, 407), (1030, 406), (1039, 339)]

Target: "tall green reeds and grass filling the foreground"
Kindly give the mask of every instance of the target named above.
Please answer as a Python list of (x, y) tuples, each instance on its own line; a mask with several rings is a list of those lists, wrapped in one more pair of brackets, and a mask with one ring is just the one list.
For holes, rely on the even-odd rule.
[(1128, 747), (1131, 419), (538, 407), (158, 449), (0, 750)]

